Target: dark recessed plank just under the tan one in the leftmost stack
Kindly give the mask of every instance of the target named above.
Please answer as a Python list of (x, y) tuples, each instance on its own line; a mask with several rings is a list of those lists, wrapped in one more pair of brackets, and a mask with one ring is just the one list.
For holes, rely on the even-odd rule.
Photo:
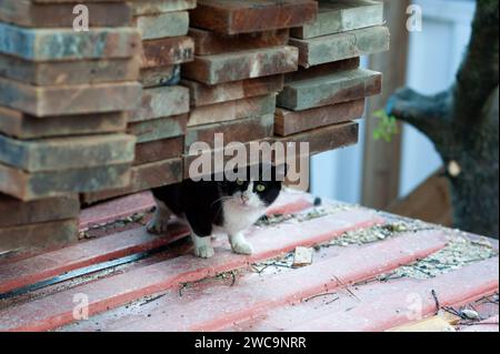
[(120, 133), (126, 131), (128, 119), (123, 112), (40, 119), (0, 107), (0, 133), (18, 139)]

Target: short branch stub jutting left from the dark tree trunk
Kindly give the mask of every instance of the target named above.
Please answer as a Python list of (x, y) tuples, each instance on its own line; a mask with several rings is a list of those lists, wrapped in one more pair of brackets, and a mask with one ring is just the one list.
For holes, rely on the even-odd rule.
[(451, 91), (423, 95), (406, 88), (390, 98), (386, 111), (389, 115), (410, 123), (439, 144), (448, 138), (451, 104)]

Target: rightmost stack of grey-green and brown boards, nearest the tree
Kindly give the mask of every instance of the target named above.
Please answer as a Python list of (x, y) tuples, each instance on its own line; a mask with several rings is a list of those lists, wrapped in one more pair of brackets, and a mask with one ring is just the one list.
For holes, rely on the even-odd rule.
[(383, 3), (320, 0), (314, 23), (291, 31), (298, 72), (287, 74), (278, 95), (277, 141), (307, 141), (310, 153), (356, 142), (364, 99), (381, 90), (381, 74), (360, 69), (360, 55), (389, 49)]

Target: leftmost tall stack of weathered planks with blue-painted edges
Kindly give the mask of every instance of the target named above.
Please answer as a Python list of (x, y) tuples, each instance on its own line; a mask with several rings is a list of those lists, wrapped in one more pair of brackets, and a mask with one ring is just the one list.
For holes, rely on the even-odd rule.
[(78, 193), (130, 183), (140, 36), (124, 1), (0, 1), (0, 253), (78, 239)]

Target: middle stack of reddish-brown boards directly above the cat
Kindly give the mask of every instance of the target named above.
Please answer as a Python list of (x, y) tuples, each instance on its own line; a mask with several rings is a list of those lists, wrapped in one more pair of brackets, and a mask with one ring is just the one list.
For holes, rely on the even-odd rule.
[(224, 144), (273, 135), (276, 94), (283, 74), (298, 69), (289, 29), (313, 23), (317, 12), (310, 0), (198, 0), (189, 32), (194, 61), (182, 72), (192, 105), (184, 178), (201, 150), (191, 150), (194, 143), (213, 149), (216, 133), (223, 133)]

